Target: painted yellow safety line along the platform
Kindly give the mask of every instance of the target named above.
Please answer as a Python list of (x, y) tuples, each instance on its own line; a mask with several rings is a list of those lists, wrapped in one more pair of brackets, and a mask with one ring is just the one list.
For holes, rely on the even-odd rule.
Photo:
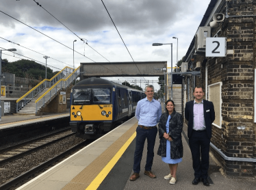
[(136, 132), (129, 137), (129, 139), (125, 142), (125, 144), (118, 150), (116, 155), (111, 159), (109, 163), (101, 170), (101, 172), (98, 174), (96, 178), (90, 183), (90, 185), (86, 188), (86, 190), (92, 190), (97, 189), (99, 185), (101, 185), (101, 182), (105, 179), (108, 173), (110, 173), (110, 170), (116, 165), (117, 161), (122, 157), (125, 150), (127, 150), (128, 146), (131, 144), (133, 139), (136, 137)]

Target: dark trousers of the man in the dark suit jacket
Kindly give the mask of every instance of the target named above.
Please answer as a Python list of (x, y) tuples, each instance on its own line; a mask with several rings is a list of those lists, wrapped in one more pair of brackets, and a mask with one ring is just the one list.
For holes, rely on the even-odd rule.
[[(205, 131), (192, 131), (189, 139), (195, 178), (207, 179), (210, 139)], [(201, 158), (200, 158), (201, 155)]]

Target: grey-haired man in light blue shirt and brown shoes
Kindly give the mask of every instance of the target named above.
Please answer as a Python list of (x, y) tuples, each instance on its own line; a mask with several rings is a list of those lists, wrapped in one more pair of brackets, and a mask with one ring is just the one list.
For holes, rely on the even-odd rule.
[(136, 128), (136, 149), (134, 152), (133, 174), (131, 181), (140, 177), (140, 161), (142, 159), (142, 152), (145, 140), (148, 143), (148, 152), (146, 155), (146, 165), (144, 174), (156, 178), (151, 172), (154, 157), (155, 137), (157, 135), (157, 123), (159, 122), (162, 109), (160, 103), (153, 98), (154, 87), (147, 85), (145, 87), (146, 98), (140, 100), (136, 107), (136, 118), (138, 120), (138, 127)]

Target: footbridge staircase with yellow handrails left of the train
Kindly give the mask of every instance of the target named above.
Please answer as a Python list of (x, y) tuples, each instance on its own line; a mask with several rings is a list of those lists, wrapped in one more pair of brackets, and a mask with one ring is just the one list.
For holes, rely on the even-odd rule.
[(48, 105), (60, 90), (66, 89), (79, 77), (79, 67), (65, 67), (51, 79), (44, 79), (24, 96), (16, 101), (16, 113), (24, 115), (36, 115)]

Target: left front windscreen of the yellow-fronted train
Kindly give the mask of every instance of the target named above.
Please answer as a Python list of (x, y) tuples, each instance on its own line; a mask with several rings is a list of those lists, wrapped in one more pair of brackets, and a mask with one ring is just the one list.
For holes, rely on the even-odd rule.
[(90, 104), (90, 88), (73, 89), (73, 104), (84, 105)]

